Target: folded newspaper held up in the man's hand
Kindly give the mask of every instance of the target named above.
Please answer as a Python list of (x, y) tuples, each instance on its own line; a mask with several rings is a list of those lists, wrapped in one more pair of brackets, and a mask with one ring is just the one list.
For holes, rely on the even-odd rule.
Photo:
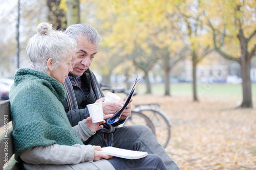
[(123, 107), (122, 107), (120, 110), (118, 110), (112, 117), (110, 117), (110, 118), (108, 118), (108, 119), (106, 120), (106, 123), (107, 123), (107, 124), (111, 125), (111, 124), (114, 124), (114, 123), (118, 122), (118, 120), (119, 120), (119, 118), (121, 117), (123, 111), (125, 110), (125, 108), (127, 107), (127, 105), (129, 105), (129, 103), (131, 102), (133, 93), (134, 93), (134, 91), (135, 91), (135, 87), (137, 86), (137, 84), (138, 84), (139, 81), (140, 81), (140, 79), (138, 79), (138, 76), (137, 76), (137, 77), (136, 77), (136, 80), (135, 80), (135, 82), (134, 82), (134, 84), (133, 84), (133, 88), (131, 89), (131, 91), (130, 91), (130, 93), (129, 93), (129, 95), (128, 95), (128, 97), (127, 97), (127, 99), (126, 99), (126, 101), (125, 101), (125, 103), (124, 103), (124, 105), (123, 105)]

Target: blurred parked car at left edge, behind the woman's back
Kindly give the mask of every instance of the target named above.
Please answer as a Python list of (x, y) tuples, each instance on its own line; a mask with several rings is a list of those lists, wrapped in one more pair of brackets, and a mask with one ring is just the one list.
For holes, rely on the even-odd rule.
[(9, 92), (13, 84), (12, 79), (0, 79), (0, 100), (8, 100)]

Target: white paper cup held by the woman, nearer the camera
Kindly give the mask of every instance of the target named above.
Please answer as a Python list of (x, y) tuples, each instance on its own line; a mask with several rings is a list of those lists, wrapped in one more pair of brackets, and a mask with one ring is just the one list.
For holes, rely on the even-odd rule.
[(93, 123), (103, 121), (102, 102), (87, 105), (87, 108), (89, 110), (90, 116), (93, 117)]

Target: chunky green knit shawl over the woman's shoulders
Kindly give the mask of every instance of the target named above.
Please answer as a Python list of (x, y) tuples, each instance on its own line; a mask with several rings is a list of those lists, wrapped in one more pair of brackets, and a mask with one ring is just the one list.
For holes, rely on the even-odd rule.
[(15, 159), (28, 148), (83, 144), (72, 129), (61, 101), (63, 86), (45, 72), (19, 69), (9, 95)]

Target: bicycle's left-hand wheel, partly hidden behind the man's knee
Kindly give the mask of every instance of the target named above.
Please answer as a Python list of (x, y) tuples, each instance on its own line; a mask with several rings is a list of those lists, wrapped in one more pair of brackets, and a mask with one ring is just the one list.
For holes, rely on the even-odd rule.
[(144, 114), (131, 111), (131, 115), (126, 118), (125, 122), (122, 126), (129, 126), (129, 125), (145, 125), (150, 128), (151, 132), (155, 135), (155, 127), (151, 120)]

